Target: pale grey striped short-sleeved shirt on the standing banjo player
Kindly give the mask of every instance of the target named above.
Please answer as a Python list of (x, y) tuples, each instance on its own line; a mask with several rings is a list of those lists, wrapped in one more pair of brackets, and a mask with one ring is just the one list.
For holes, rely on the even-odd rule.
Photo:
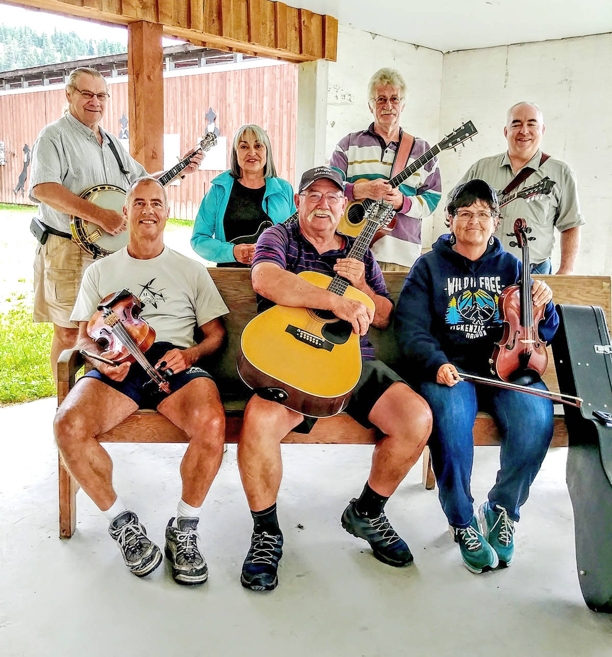
[[(32, 173), (30, 174), (30, 199), (39, 203), (33, 195), (35, 185), (58, 183), (72, 193), (80, 195), (93, 185), (117, 185), (127, 189), (137, 178), (148, 175), (121, 146), (121, 142), (105, 130), (102, 145), (94, 131), (83, 125), (70, 112), (45, 125), (32, 147)], [(117, 160), (108, 145), (113, 140), (130, 179), (121, 173)], [(50, 208), (45, 203), (38, 206), (38, 218), (51, 228), (70, 233), (70, 215)]]

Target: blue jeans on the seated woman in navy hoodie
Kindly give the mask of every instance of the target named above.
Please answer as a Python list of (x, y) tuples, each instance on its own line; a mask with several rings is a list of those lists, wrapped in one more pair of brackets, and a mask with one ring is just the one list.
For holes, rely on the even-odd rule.
[[(532, 387), (546, 390), (543, 383)], [(552, 401), (468, 381), (452, 388), (424, 382), (420, 392), (433, 413), (429, 449), (448, 523), (467, 527), (473, 516), (472, 429), (479, 408), (491, 413), (502, 437), (500, 469), (489, 502), (504, 507), (512, 520), (518, 520), (519, 507), (527, 501), (529, 486), (552, 439)]]

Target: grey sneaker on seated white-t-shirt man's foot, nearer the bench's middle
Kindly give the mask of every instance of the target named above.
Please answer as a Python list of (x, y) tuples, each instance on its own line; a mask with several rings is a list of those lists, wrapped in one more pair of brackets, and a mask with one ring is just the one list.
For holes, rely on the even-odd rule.
[(165, 528), (165, 556), (172, 566), (172, 579), (177, 584), (203, 584), (208, 579), (206, 560), (200, 552), (198, 518), (170, 518)]

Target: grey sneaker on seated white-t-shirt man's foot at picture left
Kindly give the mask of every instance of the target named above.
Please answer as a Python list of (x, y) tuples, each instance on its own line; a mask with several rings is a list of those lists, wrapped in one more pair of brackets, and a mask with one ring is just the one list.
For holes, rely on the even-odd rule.
[(162, 562), (160, 549), (147, 538), (146, 529), (133, 511), (123, 511), (114, 518), (108, 533), (117, 541), (125, 565), (135, 576), (147, 576)]

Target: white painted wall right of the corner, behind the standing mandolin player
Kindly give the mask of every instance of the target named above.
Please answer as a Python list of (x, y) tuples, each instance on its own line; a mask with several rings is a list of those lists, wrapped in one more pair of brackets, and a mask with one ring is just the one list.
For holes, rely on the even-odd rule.
[[(443, 198), (475, 160), (506, 150), (506, 110), (536, 102), (544, 112), (542, 148), (576, 172), (586, 225), (575, 273), (612, 274), (612, 34), (502, 46), (444, 56), (441, 125), (458, 114), (479, 130), (441, 167)], [(435, 217), (433, 236), (445, 232)], [(559, 263), (559, 239), (553, 271)]]

